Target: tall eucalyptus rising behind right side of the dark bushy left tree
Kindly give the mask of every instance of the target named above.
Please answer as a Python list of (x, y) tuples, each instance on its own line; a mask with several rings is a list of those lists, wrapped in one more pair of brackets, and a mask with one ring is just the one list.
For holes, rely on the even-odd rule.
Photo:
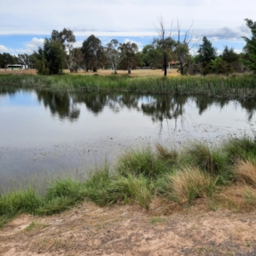
[(53, 30), (51, 33), (51, 39), (61, 44), (63, 49), (64, 60), (67, 63), (69, 71), (72, 73), (75, 65), (73, 55), (73, 43), (76, 42), (76, 38), (73, 34), (73, 31), (65, 27), (61, 32)]

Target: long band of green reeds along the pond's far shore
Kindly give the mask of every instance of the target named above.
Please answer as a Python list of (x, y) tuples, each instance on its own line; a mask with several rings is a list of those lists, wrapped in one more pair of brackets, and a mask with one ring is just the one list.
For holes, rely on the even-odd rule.
[(225, 98), (256, 98), (256, 77), (252, 74), (198, 77), (137, 77), (127, 76), (39, 76), (1, 75), (0, 84), (44, 87), (72, 91), (131, 91), (170, 95), (205, 95)]

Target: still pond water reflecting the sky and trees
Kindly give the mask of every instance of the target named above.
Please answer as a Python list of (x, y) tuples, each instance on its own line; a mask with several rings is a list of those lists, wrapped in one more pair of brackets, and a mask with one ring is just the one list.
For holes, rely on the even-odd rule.
[[(203, 96), (54, 93), (0, 87), (0, 187), (9, 179), (86, 173), (126, 148), (253, 134), (255, 102)], [(86, 174), (85, 174), (86, 175)]]

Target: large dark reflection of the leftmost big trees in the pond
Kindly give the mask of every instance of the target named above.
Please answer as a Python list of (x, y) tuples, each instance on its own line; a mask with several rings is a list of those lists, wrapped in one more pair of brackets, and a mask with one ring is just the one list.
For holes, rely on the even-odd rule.
[(79, 118), (80, 110), (75, 107), (67, 92), (55, 93), (49, 90), (37, 90), (38, 101), (44, 102), (52, 114), (58, 114), (60, 119), (69, 119), (71, 122)]

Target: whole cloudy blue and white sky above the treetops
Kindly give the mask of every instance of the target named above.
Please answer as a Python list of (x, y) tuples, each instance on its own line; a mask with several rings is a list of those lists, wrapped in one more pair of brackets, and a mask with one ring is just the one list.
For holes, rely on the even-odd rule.
[[(91, 34), (107, 44), (136, 42), (139, 49), (157, 37), (159, 18), (166, 31), (177, 19), (182, 31), (192, 26), (195, 42), (207, 36), (221, 52), (240, 52), (250, 36), (244, 19), (255, 20), (256, 0), (0, 0), (0, 53), (32, 54), (53, 29), (73, 30), (76, 46)], [(174, 33), (175, 34), (175, 33)]]

